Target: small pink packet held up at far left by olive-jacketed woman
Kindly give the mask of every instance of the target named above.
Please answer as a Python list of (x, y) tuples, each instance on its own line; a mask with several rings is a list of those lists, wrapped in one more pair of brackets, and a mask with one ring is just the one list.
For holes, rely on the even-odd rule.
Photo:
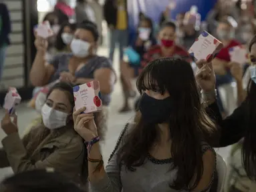
[(19, 103), (21, 103), (21, 96), (17, 92), (17, 89), (10, 87), (8, 93), (5, 96), (5, 103), (3, 104), (3, 108), (7, 109), (10, 115), (14, 115), (15, 109)]

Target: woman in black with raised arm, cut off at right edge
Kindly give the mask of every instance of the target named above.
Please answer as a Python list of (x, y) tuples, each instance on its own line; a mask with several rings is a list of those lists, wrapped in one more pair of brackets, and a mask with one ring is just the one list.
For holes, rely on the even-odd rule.
[(215, 75), (205, 63), (199, 61), (198, 67), (201, 68), (197, 74), (197, 82), (203, 90), (203, 98), (206, 99), (208, 105), (207, 111), (209, 115), (217, 121), (221, 128), (221, 140), (219, 146), (226, 147), (237, 143), (242, 138), (242, 158), (243, 166), (248, 177), (252, 180), (256, 179), (256, 36), (249, 43), (249, 58), (251, 66), (251, 80), (248, 85), (248, 93), (245, 101), (226, 119), (221, 118), (219, 108), (215, 100)]

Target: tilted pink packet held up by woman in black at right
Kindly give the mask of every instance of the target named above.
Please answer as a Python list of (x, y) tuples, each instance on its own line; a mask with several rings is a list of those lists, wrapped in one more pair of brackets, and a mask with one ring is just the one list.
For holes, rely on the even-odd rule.
[(223, 43), (221, 41), (207, 33), (207, 31), (203, 31), (190, 47), (188, 53), (197, 60), (206, 59), (211, 61), (222, 48)]

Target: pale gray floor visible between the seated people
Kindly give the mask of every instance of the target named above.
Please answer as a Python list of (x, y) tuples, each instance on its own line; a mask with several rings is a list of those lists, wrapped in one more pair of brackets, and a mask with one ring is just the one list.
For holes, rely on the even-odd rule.
[[(106, 49), (99, 49), (100, 55), (107, 55)], [(118, 55), (116, 54), (115, 61), (118, 61)], [(114, 68), (118, 72), (118, 62), (114, 62)], [(132, 102), (132, 101), (131, 101)], [(112, 152), (112, 149), (114, 149), (114, 145), (116, 143), (116, 140), (118, 139), (118, 135), (120, 131), (122, 131), (122, 128), (128, 121), (132, 121), (132, 117), (134, 117), (134, 113), (126, 113), (126, 114), (118, 114), (118, 109), (122, 105), (122, 91), (120, 88), (120, 84), (117, 83), (116, 87), (114, 89), (114, 93), (112, 94), (112, 103), (110, 105), (110, 117), (108, 119), (108, 132), (106, 136), (105, 143), (102, 143), (102, 155), (105, 159), (108, 159), (110, 153)], [(4, 115), (3, 111), (0, 111), (0, 119), (2, 119)], [(26, 125), (37, 115), (33, 109), (27, 108), (27, 104), (23, 103), (19, 105), (17, 109), (17, 115), (18, 115), (18, 125), (19, 125), (19, 133), (22, 134)], [(5, 134), (0, 129), (0, 140), (5, 137)], [(1, 144), (0, 144), (1, 146)], [(227, 157), (229, 154), (229, 147), (223, 148), (223, 149), (217, 149), (218, 153), (223, 155), (224, 158)], [(1, 161), (1, 159), (0, 159)], [(6, 175), (11, 174), (12, 171), (10, 168), (6, 169), (0, 169), (0, 181), (5, 177)]]

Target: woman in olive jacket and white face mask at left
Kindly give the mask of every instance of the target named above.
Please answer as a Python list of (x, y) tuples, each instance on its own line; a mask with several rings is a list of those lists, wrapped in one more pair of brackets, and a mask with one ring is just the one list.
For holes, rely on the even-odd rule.
[[(41, 109), (42, 121), (22, 139), (18, 133), (17, 117), (11, 121), (7, 112), (1, 121), (7, 137), (2, 140), (0, 168), (11, 167), (14, 173), (20, 173), (53, 167), (72, 181), (86, 181), (88, 166), (84, 157), (87, 153), (84, 153), (83, 139), (74, 131), (74, 103), (73, 85), (55, 84)], [(101, 114), (96, 115), (99, 127), (103, 125)]]

